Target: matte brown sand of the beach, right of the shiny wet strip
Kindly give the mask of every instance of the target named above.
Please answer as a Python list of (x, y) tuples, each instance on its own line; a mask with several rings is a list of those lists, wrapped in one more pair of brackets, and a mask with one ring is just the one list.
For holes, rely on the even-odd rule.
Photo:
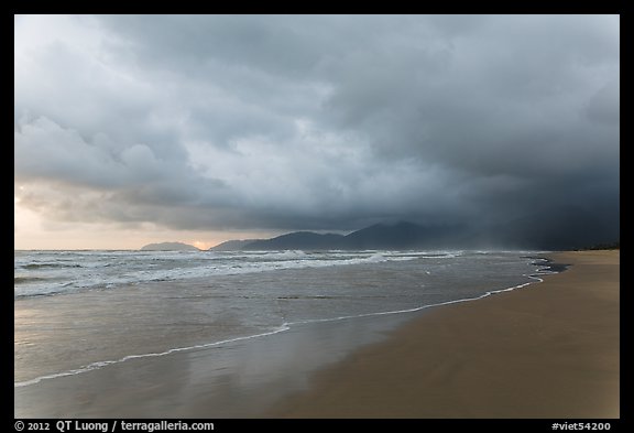
[(433, 308), (313, 376), (271, 418), (619, 418), (620, 251), (561, 252), (545, 282)]

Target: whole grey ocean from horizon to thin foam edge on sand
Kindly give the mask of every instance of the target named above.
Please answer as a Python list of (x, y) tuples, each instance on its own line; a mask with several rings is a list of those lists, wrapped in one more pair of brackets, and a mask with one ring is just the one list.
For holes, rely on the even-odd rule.
[(15, 251), (14, 387), (477, 300), (539, 281), (536, 255)]

